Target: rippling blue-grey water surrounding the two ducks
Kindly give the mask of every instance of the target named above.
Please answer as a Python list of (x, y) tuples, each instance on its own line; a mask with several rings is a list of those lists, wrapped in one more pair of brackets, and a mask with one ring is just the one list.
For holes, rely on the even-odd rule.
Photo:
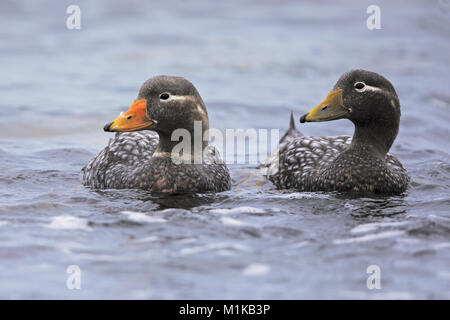
[[(371, 1), (77, 3), (79, 31), (69, 2), (0, 3), (1, 298), (450, 298), (448, 1), (378, 1), (373, 31)], [(243, 183), (250, 165), (216, 195), (80, 184), (103, 125), (153, 75), (190, 79), (213, 127), (283, 132), (351, 68), (400, 97), (403, 197), (280, 192)], [(66, 288), (69, 265), (81, 290)]]

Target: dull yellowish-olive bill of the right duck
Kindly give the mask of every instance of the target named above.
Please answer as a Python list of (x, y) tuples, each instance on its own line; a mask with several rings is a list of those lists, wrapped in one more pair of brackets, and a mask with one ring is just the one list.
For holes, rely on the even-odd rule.
[(300, 118), (300, 122), (331, 121), (345, 118), (350, 109), (344, 106), (342, 89), (331, 91), (317, 107)]

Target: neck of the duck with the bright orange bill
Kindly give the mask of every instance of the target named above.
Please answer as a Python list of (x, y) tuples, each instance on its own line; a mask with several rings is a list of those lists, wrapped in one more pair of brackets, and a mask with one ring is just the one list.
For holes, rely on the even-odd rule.
[(208, 129), (208, 123), (194, 121), (191, 128), (177, 128), (170, 133), (159, 131), (155, 155), (183, 157), (187, 162), (201, 163), (203, 150), (208, 146)]

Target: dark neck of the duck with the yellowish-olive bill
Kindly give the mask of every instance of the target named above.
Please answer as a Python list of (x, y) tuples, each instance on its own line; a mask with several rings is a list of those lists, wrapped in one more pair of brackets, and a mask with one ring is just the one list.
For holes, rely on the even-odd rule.
[(390, 123), (369, 122), (355, 123), (355, 133), (349, 149), (365, 149), (375, 156), (384, 158), (389, 152), (398, 133), (399, 122)]

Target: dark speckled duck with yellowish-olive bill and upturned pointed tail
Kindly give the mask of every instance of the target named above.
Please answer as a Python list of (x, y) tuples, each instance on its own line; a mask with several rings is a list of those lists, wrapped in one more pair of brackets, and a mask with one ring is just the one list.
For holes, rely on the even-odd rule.
[(389, 150), (400, 125), (400, 101), (389, 80), (371, 71), (345, 72), (300, 123), (350, 120), (353, 136), (305, 136), (290, 126), (264, 163), (277, 189), (402, 194), (409, 176)]

